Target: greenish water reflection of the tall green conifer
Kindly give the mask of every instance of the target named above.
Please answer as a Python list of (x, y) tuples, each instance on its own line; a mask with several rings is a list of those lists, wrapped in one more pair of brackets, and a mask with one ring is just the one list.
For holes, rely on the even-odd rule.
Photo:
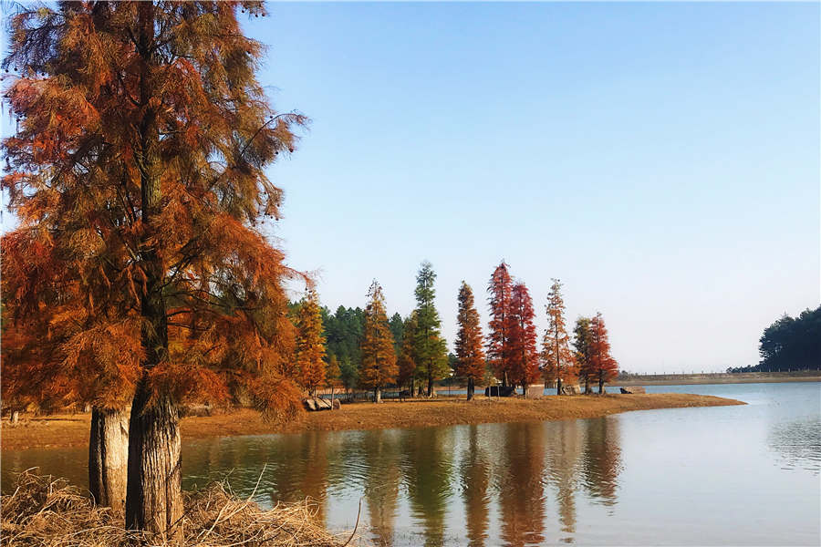
[(442, 545), (444, 519), (451, 492), (452, 450), (445, 441), (453, 428), (404, 429), (402, 470), (411, 512), (421, 518), (425, 545)]

